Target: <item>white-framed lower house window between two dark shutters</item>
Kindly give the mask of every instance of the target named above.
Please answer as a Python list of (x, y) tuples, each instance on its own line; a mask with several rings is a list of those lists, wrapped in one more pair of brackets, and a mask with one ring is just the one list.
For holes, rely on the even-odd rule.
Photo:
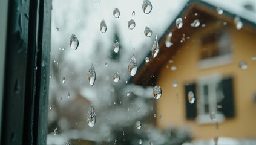
[[(217, 109), (218, 107), (222, 107), (217, 105), (217, 102), (223, 98), (222, 90), (217, 91), (218, 84), (220, 84), (221, 81), (222, 76), (219, 73), (214, 73), (209, 76), (202, 76), (197, 79), (197, 123), (222, 123), (225, 120), (225, 116)], [(207, 94), (205, 94), (205, 86), (208, 86)], [(205, 98), (207, 98), (207, 100)], [(209, 105), (208, 112), (206, 112), (206, 103)], [(211, 120), (210, 117), (210, 114), (213, 112), (216, 116), (215, 120)]]

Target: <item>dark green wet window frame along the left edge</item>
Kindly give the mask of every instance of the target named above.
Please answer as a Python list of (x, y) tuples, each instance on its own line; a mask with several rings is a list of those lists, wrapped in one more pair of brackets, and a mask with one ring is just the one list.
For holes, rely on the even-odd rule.
[(10, 0), (7, 11), (0, 144), (46, 144), (51, 0)]

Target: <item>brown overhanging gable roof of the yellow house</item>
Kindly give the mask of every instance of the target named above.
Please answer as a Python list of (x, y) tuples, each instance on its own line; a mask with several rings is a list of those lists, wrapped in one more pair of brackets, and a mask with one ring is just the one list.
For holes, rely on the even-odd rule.
[[(159, 53), (157, 56), (153, 58), (151, 56), (151, 51), (149, 51), (147, 55), (149, 57), (149, 62), (142, 62), (140, 64), (137, 74), (130, 78), (130, 82), (142, 86), (156, 85), (156, 77), (154, 76), (157, 76), (159, 70), (164, 67), (166, 62), (169, 61), (169, 58), (174, 56), (180, 45), (183, 45), (183, 43), (180, 42), (182, 37), (184, 37), (184, 35), (185, 37), (192, 36), (193, 33), (202, 28), (202, 24), (205, 24), (206, 27), (210, 22), (226, 22), (227, 25), (234, 25), (234, 18), (237, 17), (236, 14), (226, 10), (223, 10), (223, 14), (218, 14), (217, 10), (218, 7), (204, 1), (189, 1), (176, 17), (176, 19), (183, 19), (182, 28), (177, 29), (176, 21), (173, 21), (171, 25), (169, 25), (166, 33), (159, 39)], [(190, 26), (195, 19), (199, 19), (199, 27)], [(243, 22), (243, 30), (256, 30), (256, 24), (252, 20), (243, 17), (240, 17), (240, 20)], [(165, 39), (169, 32), (172, 32), (172, 46), (168, 48), (165, 46)]]

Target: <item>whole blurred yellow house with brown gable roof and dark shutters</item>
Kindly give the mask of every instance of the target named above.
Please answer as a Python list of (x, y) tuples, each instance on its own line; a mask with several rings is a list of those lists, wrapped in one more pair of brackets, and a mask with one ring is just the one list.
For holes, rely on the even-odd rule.
[(256, 24), (191, 2), (159, 40), (132, 82), (158, 85), (161, 129), (188, 127), (194, 139), (256, 137)]

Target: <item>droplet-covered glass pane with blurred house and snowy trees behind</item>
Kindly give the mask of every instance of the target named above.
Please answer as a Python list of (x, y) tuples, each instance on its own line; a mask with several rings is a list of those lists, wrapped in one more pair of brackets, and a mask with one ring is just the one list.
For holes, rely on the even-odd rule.
[(52, 5), (47, 144), (256, 143), (255, 1)]

